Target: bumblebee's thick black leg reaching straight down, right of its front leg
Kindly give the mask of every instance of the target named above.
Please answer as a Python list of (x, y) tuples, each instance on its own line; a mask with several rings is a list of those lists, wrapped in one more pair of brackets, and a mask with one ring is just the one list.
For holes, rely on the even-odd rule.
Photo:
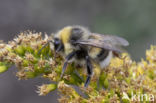
[(93, 73), (93, 66), (92, 66), (92, 63), (89, 59), (89, 56), (86, 56), (86, 64), (87, 64), (87, 73), (88, 73), (88, 76), (87, 76), (87, 79), (86, 79), (86, 82), (85, 82), (85, 87), (88, 86), (88, 84), (90, 83), (90, 80), (91, 80), (91, 76), (92, 76), (92, 73)]

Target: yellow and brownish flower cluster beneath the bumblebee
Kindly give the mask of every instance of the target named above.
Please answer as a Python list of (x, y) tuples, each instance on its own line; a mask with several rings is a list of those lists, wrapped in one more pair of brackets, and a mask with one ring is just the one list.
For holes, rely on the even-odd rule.
[[(0, 43), (0, 73), (12, 65), (18, 68), (19, 79), (41, 76), (52, 81), (38, 87), (39, 95), (58, 89), (61, 103), (134, 103), (156, 102), (156, 46), (146, 51), (146, 59), (132, 61), (128, 54), (113, 58), (104, 70), (94, 65), (88, 88), (84, 88), (86, 69), (69, 64), (61, 79), (63, 58), (50, 46), (40, 49), (50, 37), (41, 33), (20, 33), (8, 44)], [(77, 89), (75, 89), (77, 88)]]

